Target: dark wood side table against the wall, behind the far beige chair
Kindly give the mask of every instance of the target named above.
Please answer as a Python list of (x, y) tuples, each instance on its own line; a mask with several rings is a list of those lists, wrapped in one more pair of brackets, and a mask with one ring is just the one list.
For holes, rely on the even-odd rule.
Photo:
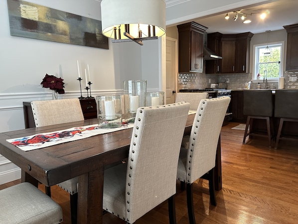
[[(35, 128), (31, 102), (23, 102), (25, 128)], [(95, 98), (80, 99), (84, 119), (97, 118), (97, 106)]]

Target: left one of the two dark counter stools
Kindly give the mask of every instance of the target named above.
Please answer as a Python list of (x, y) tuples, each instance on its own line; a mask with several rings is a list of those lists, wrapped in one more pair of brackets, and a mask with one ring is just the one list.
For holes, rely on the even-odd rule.
[[(269, 147), (271, 148), (271, 139), (274, 136), (273, 112), (274, 105), (271, 90), (243, 90), (243, 114), (247, 115), (243, 144), (245, 144), (247, 136), (249, 136), (249, 138), (251, 136), (262, 136), (268, 138)], [(254, 131), (254, 119), (266, 120), (267, 135)]]

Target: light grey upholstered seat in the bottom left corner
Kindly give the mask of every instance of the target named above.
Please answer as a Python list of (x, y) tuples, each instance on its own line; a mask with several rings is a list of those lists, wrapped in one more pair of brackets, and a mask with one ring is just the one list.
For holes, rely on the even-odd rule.
[(0, 224), (59, 224), (62, 209), (29, 183), (0, 191)]

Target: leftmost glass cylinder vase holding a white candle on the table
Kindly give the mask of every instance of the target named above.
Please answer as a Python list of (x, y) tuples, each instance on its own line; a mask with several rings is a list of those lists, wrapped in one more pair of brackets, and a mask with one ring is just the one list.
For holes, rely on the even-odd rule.
[(122, 125), (121, 95), (96, 96), (96, 102), (100, 128), (117, 128)]

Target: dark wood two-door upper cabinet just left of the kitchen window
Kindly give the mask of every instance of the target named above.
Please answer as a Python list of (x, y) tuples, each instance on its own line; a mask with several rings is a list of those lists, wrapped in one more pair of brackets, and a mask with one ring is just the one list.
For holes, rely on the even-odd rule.
[(224, 34), (221, 41), (221, 73), (248, 73), (251, 32)]

